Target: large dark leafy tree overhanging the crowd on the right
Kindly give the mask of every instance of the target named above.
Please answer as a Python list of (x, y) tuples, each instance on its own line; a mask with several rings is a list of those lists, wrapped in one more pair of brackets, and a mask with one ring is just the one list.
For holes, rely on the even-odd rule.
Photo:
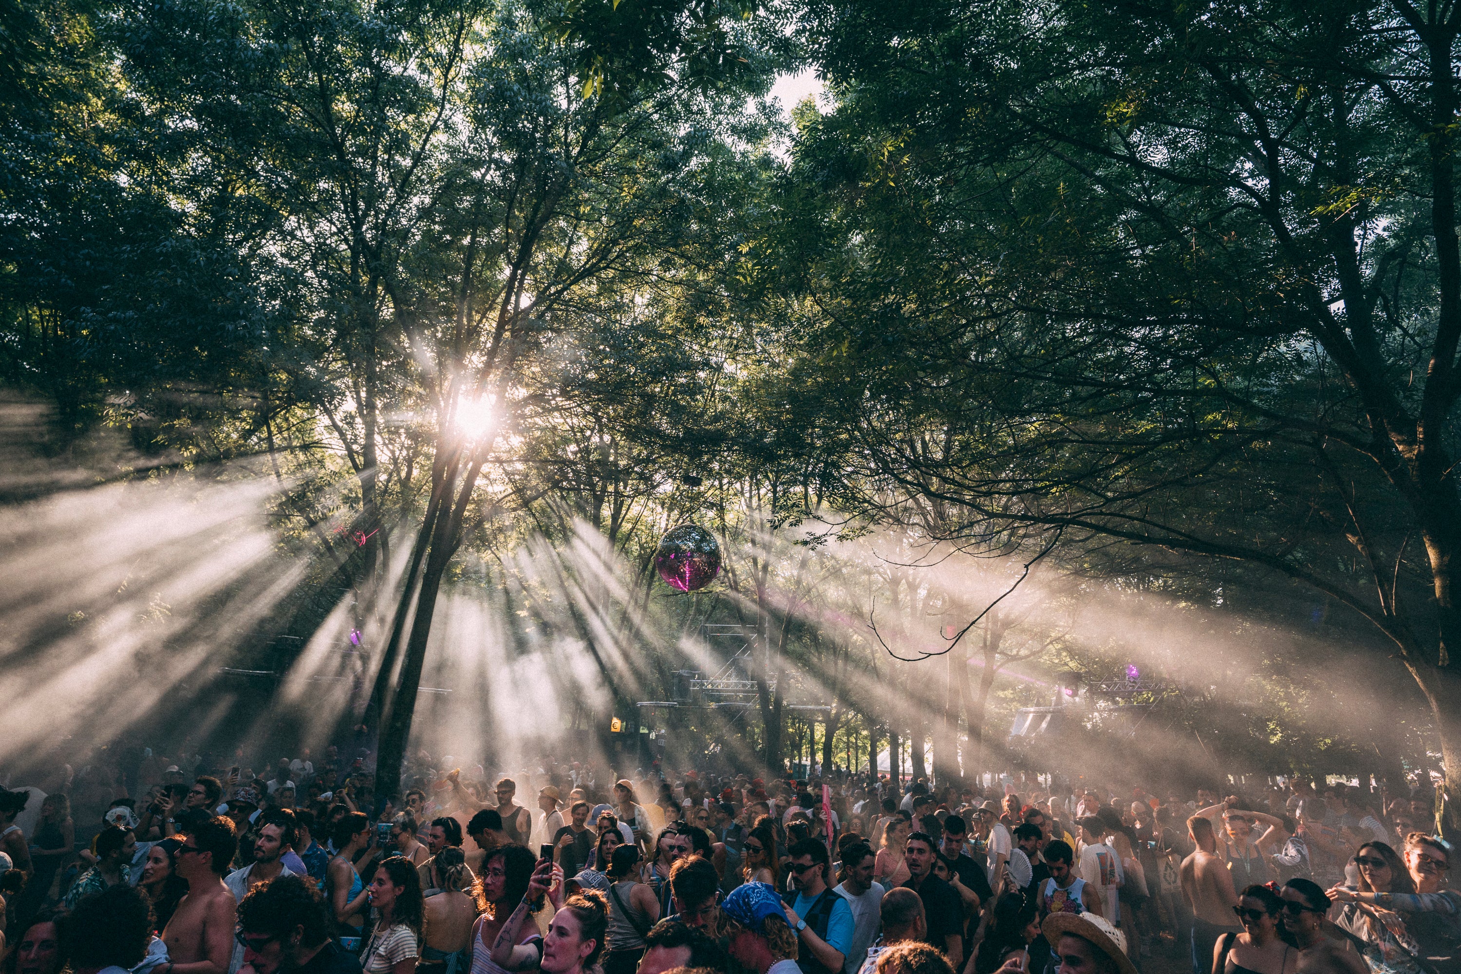
[(773, 235), (817, 260), (777, 273), (878, 475), (963, 511), (953, 540), (1322, 591), (1389, 638), (1461, 794), (1461, 9), (812, 20), (839, 104)]

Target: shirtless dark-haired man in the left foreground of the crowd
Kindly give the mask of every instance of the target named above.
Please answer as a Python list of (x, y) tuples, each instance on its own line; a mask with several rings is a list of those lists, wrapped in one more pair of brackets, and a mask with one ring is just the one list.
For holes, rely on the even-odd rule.
[(188, 882), (162, 940), (172, 962), (156, 974), (225, 974), (234, 956), (238, 901), (224, 875), (238, 850), (226, 818), (202, 822), (177, 851), (177, 873)]

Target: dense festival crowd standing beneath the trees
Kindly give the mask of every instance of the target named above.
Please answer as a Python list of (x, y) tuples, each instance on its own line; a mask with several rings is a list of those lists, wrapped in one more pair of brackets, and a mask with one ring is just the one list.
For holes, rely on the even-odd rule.
[(1461, 973), (1429, 781), (241, 765), (0, 791), (4, 974)]

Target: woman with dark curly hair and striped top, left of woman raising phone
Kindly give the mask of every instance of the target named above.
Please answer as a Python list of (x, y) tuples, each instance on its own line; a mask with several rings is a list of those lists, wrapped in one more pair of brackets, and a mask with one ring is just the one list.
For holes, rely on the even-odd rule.
[[(552, 863), (546, 872), (530, 851), (522, 845), (498, 845), (482, 860), (482, 873), (476, 878), (472, 892), (476, 908), (482, 913), (472, 930), (468, 951), (472, 956), (472, 974), (507, 974), (536, 967), (542, 956), (542, 935), (536, 924), (524, 924), (529, 914), (542, 910), (542, 897), (549, 889), (561, 889), (554, 883)], [(545, 872), (546, 879), (533, 886), (535, 869)]]

